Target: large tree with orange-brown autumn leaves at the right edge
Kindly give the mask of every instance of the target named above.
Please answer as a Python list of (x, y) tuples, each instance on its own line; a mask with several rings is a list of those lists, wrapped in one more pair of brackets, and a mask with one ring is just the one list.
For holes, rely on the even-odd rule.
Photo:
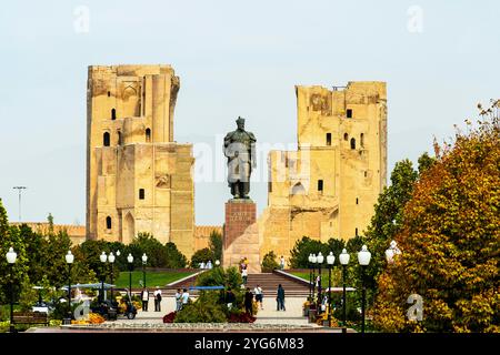
[[(378, 280), (379, 329), (500, 332), (498, 105), (453, 144), (436, 145), (436, 163), (416, 182), (396, 236), (402, 254)], [(407, 318), (410, 294), (423, 298), (421, 322)]]

